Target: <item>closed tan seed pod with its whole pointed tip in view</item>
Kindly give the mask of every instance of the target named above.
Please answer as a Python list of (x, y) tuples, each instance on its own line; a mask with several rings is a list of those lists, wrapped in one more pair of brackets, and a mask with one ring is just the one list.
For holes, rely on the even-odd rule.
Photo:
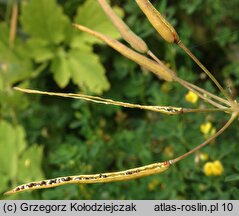
[(110, 37), (107, 37), (106, 35), (103, 35), (99, 32), (93, 31), (85, 26), (73, 24), (73, 26), (81, 31), (87, 32), (88, 34), (91, 34), (100, 40), (107, 43), (109, 46), (111, 46), (113, 49), (117, 50), (119, 53), (124, 55), (125, 57), (131, 59), (132, 61), (136, 62), (137, 64), (141, 65), (142, 67), (148, 69), (149, 71), (153, 72), (160, 78), (166, 80), (166, 81), (173, 81), (175, 74), (172, 70), (167, 68), (164, 65), (159, 65), (157, 62), (135, 52), (134, 50), (126, 47), (122, 43), (120, 43), (117, 40), (114, 40)]

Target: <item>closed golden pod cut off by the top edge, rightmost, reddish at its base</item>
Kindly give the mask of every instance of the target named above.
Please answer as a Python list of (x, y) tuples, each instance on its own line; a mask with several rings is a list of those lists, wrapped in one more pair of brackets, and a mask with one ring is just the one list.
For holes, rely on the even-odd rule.
[(135, 1), (164, 40), (168, 43), (179, 43), (180, 40), (176, 30), (148, 0)]

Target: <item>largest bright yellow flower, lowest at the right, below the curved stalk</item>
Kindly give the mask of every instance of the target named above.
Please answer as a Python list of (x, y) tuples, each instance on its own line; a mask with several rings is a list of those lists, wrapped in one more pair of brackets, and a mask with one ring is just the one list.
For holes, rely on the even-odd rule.
[(206, 176), (220, 176), (224, 169), (222, 163), (219, 160), (216, 160), (214, 162), (205, 163), (203, 171)]

